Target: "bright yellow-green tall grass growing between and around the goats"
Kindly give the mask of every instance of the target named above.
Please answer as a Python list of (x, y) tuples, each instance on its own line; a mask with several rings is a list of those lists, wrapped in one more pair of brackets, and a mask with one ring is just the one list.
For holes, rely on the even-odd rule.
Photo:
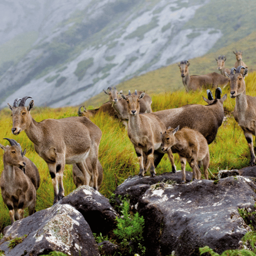
[[(256, 86), (254, 80), (256, 79), (256, 72), (251, 72), (245, 78), (247, 85), (247, 94), (256, 96)], [(213, 92), (214, 93), (214, 92)], [(249, 164), (249, 150), (247, 142), (242, 130), (231, 115), (234, 108), (235, 100), (229, 97), (229, 88), (223, 90), (223, 95), (227, 93), (228, 98), (224, 102), (226, 113), (226, 120), (218, 131), (217, 138), (209, 145), (210, 165), (209, 178), (215, 179), (219, 169), (240, 169)], [(177, 108), (185, 104), (206, 104), (202, 95), (206, 97), (206, 90), (194, 93), (184, 93), (184, 90), (174, 93), (151, 94), (152, 109), (159, 111), (168, 108)], [(11, 104), (13, 102), (10, 102)], [(29, 100), (26, 105), (28, 105)], [(35, 102), (36, 104), (36, 102)], [(18, 136), (11, 134), (12, 119), (11, 111), (4, 109), (0, 112), (0, 143), (7, 145), (8, 142), (3, 138), (15, 139), (22, 145), (23, 149), (27, 148), (26, 156), (30, 158), (38, 167), (41, 184), (37, 191), (36, 210), (50, 207), (53, 202), (53, 187), (51, 178), (48, 172), (47, 164), (34, 151), (32, 142), (28, 139), (25, 132)], [(31, 110), (33, 118), (39, 122), (46, 118), (63, 118), (68, 116), (76, 116), (77, 108), (33, 108)], [(134, 147), (130, 142), (124, 126), (118, 121), (112, 119), (107, 114), (99, 114), (92, 118), (102, 131), (102, 139), (99, 146), (99, 160), (104, 171), (104, 178), (100, 188), (100, 193), (109, 197), (117, 185), (122, 183), (130, 175), (137, 175), (139, 173), (139, 164), (134, 151)], [(0, 151), (0, 172), (3, 170), (3, 153)], [(178, 156), (175, 155), (175, 163), (180, 169)], [(161, 174), (170, 172), (171, 166), (167, 156), (164, 156), (159, 166), (156, 168), (156, 173)], [(186, 170), (190, 170), (186, 166)], [(148, 175), (148, 174), (146, 174)], [(72, 180), (72, 166), (66, 165), (63, 183), (65, 187), (65, 195), (69, 194), (75, 185)], [(0, 198), (0, 231), (2, 228), (10, 224), (8, 209), (4, 205), (2, 197)]]

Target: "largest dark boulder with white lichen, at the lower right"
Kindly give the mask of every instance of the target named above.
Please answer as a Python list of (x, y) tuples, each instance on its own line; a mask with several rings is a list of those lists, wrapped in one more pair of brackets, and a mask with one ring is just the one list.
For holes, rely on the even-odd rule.
[(238, 208), (254, 211), (255, 189), (252, 178), (241, 176), (152, 185), (138, 203), (147, 255), (199, 255), (205, 245), (218, 253), (239, 248), (250, 228)]

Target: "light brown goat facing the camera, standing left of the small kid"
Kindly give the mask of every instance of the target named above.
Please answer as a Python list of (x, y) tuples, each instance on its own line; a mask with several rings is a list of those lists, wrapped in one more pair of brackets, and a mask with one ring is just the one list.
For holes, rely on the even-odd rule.
[[(140, 178), (144, 176), (144, 172), (147, 171), (148, 167), (150, 167), (151, 177), (155, 177), (154, 155), (157, 151), (162, 153), (161, 132), (165, 131), (164, 124), (153, 113), (139, 114), (139, 102), (144, 95), (144, 92), (137, 95), (137, 91), (135, 91), (134, 95), (131, 95), (130, 91), (128, 96), (121, 94), (122, 98), (127, 101), (127, 112), (129, 113), (127, 134), (139, 159)], [(143, 166), (144, 158), (146, 158), (145, 166)]]

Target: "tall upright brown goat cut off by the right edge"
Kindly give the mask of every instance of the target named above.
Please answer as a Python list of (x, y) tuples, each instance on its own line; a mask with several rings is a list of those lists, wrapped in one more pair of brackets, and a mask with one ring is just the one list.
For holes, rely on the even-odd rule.
[(232, 68), (230, 72), (230, 97), (236, 98), (233, 116), (242, 128), (250, 150), (250, 165), (255, 164), (255, 155), (253, 151), (253, 137), (256, 135), (256, 97), (246, 95), (246, 86), (244, 77), (248, 69), (239, 66)]

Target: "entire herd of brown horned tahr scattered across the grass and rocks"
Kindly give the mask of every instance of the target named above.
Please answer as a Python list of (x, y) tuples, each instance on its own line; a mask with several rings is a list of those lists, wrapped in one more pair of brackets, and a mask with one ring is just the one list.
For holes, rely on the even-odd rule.
[[(230, 97), (236, 98), (233, 116), (244, 131), (249, 145), (250, 165), (255, 164), (252, 135), (256, 130), (256, 97), (246, 95), (245, 81), (248, 69), (242, 61), (242, 52), (234, 52), (237, 62), (234, 68), (225, 68), (225, 56), (219, 56), (216, 72), (201, 76), (189, 76), (187, 60), (181, 61), (181, 77), (187, 91), (197, 90), (203, 86), (216, 89), (215, 98), (207, 90), (207, 98), (203, 99), (207, 105), (188, 104), (180, 108), (152, 112), (152, 99), (145, 92), (124, 95), (116, 88), (108, 88), (109, 101), (97, 110), (81, 111), (77, 117), (62, 119), (45, 119), (36, 122), (30, 111), (34, 101), (28, 106), (28, 98), (15, 99), (9, 105), (12, 112), (11, 129), (14, 135), (25, 131), (33, 142), (36, 153), (46, 161), (54, 188), (55, 204), (64, 197), (63, 172), (65, 164), (73, 164), (73, 180), (76, 187), (90, 185), (98, 189), (103, 177), (103, 169), (98, 160), (98, 149), (101, 130), (90, 117), (98, 112), (108, 112), (109, 115), (122, 120), (127, 134), (134, 145), (138, 157), (139, 177), (150, 168), (150, 174), (155, 177), (155, 168), (167, 153), (172, 172), (176, 173), (173, 153), (178, 153), (182, 168), (182, 183), (186, 182), (186, 161), (193, 169), (193, 180), (201, 179), (199, 166), (203, 166), (204, 178), (208, 179), (209, 148), (214, 141), (218, 129), (224, 118), (223, 102), (227, 98), (221, 97), (221, 88), (230, 82)], [(217, 88), (218, 87), (218, 88)], [(121, 97), (119, 97), (119, 94)], [(0, 186), (4, 203), (9, 209), (11, 223), (23, 218), (24, 209), (28, 207), (29, 215), (35, 211), (36, 190), (40, 177), (37, 167), (25, 157), (26, 150), (13, 139), (5, 138), (9, 145), (0, 147), (5, 151), (3, 156), (4, 170), (1, 175)]]

